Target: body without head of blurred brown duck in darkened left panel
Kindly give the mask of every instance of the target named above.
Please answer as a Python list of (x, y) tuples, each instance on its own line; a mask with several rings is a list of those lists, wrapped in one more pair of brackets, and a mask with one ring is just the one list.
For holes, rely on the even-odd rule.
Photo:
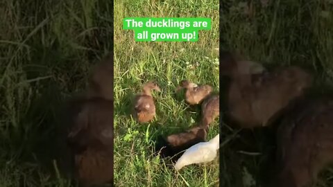
[(112, 101), (101, 98), (85, 100), (74, 116), (67, 142), (82, 186), (113, 182), (112, 116)]

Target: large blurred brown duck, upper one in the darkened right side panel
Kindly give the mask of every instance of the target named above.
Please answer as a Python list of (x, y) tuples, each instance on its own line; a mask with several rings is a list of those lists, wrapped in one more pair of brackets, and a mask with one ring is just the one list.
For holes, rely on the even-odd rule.
[(304, 94), (311, 85), (311, 75), (297, 66), (272, 72), (239, 74), (237, 62), (224, 52), (223, 71), (230, 77), (228, 115), (241, 127), (268, 125), (289, 102)]

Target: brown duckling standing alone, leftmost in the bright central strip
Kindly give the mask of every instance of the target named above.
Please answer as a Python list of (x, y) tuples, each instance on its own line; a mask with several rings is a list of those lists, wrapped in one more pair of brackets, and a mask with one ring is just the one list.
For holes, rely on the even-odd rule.
[(147, 123), (155, 117), (155, 103), (151, 89), (161, 91), (155, 82), (147, 82), (144, 84), (142, 93), (135, 96), (134, 116), (139, 123)]

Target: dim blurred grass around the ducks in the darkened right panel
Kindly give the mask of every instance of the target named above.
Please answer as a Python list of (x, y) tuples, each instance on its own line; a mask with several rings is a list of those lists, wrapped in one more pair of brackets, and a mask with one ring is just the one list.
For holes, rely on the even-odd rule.
[[(222, 47), (239, 51), (248, 60), (265, 66), (299, 65), (316, 75), (316, 91), (332, 89), (333, 4), (332, 1), (224, 1)], [(265, 2), (268, 2), (267, 6)], [(223, 89), (223, 88), (221, 88)], [(228, 135), (222, 127), (222, 134)], [(273, 132), (269, 129), (238, 136), (234, 143), (221, 148), (222, 186), (255, 186), (244, 180), (251, 176), (260, 182), (267, 179), (269, 157), (274, 150)], [(241, 148), (235, 145), (243, 142)], [(250, 143), (252, 145), (249, 145)], [(239, 153), (239, 150), (251, 154)], [(271, 163), (272, 164), (272, 163)], [(273, 164), (272, 164), (273, 165)], [(266, 172), (266, 173), (265, 173)], [(333, 186), (332, 168), (321, 173), (316, 186)], [(243, 180), (242, 180), (243, 179)], [(250, 180), (253, 181), (253, 180)]]

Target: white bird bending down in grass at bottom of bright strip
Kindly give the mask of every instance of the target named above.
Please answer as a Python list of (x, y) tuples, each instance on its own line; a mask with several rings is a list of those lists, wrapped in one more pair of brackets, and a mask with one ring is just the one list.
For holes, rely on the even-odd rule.
[(220, 134), (207, 142), (200, 142), (188, 148), (182, 157), (178, 159), (175, 169), (180, 170), (182, 167), (192, 163), (205, 163), (213, 161), (220, 147)]

